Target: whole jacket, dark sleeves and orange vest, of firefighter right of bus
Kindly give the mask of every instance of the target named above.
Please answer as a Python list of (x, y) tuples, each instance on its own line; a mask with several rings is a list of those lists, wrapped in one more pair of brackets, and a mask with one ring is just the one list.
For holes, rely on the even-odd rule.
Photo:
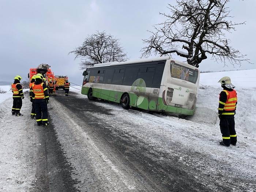
[(234, 89), (225, 89), (219, 94), (219, 114), (234, 116), (237, 105), (237, 92)]

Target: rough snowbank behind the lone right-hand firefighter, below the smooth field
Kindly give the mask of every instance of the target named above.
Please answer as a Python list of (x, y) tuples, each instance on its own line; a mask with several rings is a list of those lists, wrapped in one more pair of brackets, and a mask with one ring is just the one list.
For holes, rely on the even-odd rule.
[[(187, 119), (196, 123), (206, 124), (210, 127), (219, 127), (218, 119), (218, 96), (222, 88), (211, 86), (199, 89), (196, 112), (193, 117)], [(256, 89), (238, 88), (237, 91), (237, 110), (235, 115), (236, 130), (239, 138), (241, 132), (245, 133), (247, 140), (256, 142)]]

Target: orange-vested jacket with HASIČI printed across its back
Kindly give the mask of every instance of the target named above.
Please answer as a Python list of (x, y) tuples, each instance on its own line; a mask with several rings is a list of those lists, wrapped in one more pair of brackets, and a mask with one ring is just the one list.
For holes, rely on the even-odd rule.
[(35, 82), (31, 87), (31, 96), (34, 101), (37, 102), (44, 102), (45, 100), (49, 100), (48, 96), (48, 89), (46, 84), (43, 82)]

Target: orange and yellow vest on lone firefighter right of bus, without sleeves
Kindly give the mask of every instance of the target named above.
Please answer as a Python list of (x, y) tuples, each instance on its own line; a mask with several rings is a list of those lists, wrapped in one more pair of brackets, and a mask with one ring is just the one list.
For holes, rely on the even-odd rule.
[(219, 110), (222, 111), (222, 115), (234, 115), (236, 110), (236, 103), (237, 103), (237, 93), (236, 90), (227, 91), (223, 90), (223, 92), (226, 93), (227, 99), (226, 102), (221, 102), (222, 105), (224, 105), (223, 108), (219, 108)]

